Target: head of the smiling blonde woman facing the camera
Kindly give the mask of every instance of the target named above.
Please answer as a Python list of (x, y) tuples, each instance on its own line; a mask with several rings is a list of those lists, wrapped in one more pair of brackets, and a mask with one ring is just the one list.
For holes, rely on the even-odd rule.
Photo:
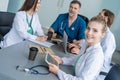
[(107, 27), (104, 19), (91, 19), (85, 32), (86, 41), (89, 43), (90, 46), (98, 43), (100, 39), (104, 37), (106, 30)]

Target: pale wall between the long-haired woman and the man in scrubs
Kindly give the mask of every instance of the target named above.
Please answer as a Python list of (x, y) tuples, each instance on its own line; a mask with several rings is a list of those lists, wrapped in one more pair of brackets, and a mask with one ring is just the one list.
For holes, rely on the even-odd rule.
[(39, 10), (41, 24), (49, 27), (59, 13), (65, 13), (68, 11), (70, 1), (71, 0), (42, 0)]

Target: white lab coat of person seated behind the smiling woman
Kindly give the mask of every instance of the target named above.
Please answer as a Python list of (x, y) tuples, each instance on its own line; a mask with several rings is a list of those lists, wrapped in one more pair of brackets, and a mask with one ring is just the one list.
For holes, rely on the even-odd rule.
[[(104, 53), (104, 64), (101, 69), (102, 72), (108, 73), (112, 66), (110, 66), (112, 55), (116, 48), (115, 37), (113, 33), (107, 28), (104, 38), (101, 40), (101, 46)], [(104, 75), (99, 75), (97, 80), (104, 80)]]

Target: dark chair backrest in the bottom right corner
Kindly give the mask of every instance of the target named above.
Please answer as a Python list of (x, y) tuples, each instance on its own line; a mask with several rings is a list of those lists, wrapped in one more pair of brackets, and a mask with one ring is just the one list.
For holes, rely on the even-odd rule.
[(105, 80), (120, 80), (120, 65), (114, 65), (105, 77)]

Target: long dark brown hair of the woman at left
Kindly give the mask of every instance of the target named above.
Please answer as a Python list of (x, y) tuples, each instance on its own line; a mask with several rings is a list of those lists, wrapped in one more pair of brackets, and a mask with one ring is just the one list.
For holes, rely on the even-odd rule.
[(34, 6), (34, 11), (37, 6), (38, 0), (25, 0), (23, 6), (19, 9), (19, 11), (28, 11)]

